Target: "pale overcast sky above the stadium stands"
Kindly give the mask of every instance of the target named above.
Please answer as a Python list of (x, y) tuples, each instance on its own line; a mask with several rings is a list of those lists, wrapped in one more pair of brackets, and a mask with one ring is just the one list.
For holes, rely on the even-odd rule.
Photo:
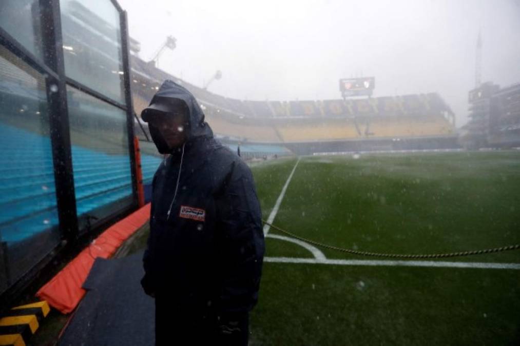
[(338, 80), (374, 76), (374, 96), (439, 92), (467, 121), (482, 29), (482, 79), (520, 82), (519, 0), (119, 0), (148, 60), (209, 90), (249, 100), (340, 98)]

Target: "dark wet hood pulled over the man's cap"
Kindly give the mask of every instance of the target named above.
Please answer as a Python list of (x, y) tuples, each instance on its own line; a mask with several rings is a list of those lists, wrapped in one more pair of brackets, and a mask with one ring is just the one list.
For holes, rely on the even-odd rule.
[(185, 87), (170, 80), (164, 81), (159, 91), (153, 96), (148, 108), (142, 111), (141, 118), (148, 121), (151, 114), (165, 113), (168, 105), (178, 104), (178, 102), (183, 102), (188, 108), (187, 142), (195, 137), (213, 137), (213, 131), (204, 121), (204, 113), (193, 94)]

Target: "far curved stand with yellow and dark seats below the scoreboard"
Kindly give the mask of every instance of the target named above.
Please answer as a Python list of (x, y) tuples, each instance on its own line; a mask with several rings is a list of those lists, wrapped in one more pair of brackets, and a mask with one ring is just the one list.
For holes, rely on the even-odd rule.
[[(137, 114), (147, 107), (161, 83), (172, 79), (197, 98), (215, 134), (241, 141), (281, 143), (454, 134), (453, 125), (446, 120), (453, 113), (435, 93), (356, 100), (242, 101), (213, 94), (135, 56), (132, 74)], [(360, 129), (363, 123), (372, 124), (372, 129)]]

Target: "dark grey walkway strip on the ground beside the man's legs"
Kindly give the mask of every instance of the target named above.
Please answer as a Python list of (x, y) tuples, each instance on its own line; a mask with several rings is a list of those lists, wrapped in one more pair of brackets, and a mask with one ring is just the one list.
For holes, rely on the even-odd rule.
[(58, 345), (153, 345), (155, 307), (140, 280), (142, 251), (96, 259), (77, 307)]

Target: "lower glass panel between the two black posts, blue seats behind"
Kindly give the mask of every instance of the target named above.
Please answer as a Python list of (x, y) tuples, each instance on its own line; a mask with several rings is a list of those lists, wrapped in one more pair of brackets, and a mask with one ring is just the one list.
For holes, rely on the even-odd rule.
[(133, 202), (126, 112), (67, 86), (80, 229)]

